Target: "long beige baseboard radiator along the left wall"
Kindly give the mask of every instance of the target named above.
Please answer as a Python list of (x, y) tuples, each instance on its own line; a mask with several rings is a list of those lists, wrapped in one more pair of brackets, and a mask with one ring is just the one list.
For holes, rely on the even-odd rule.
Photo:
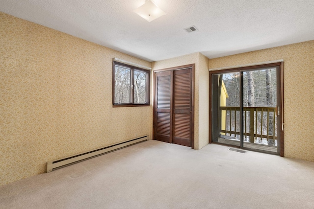
[(95, 149), (95, 150), (92, 150), (89, 152), (84, 152), (84, 153), (80, 153), (78, 155), (73, 155), (73, 156), (69, 156), (66, 158), (62, 158), (62, 159), (48, 162), (47, 163), (47, 173), (51, 172), (53, 170), (56, 170), (58, 168), (61, 168), (61, 167), (65, 167), (65, 166), (68, 166), (68, 165), (71, 165), (74, 163), (85, 161), (85, 160), (88, 160), (90, 158), (95, 158), (97, 156), (104, 155), (108, 152), (112, 152), (112, 151), (117, 150), (117, 149), (122, 149), (124, 147), (131, 146), (133, 144), (146, 141), (147, 139), (148, 139), (148, 136), (143, 136), (143, 137), (139, 137), (136, 139), (130, 139), (130, 140), (127, 140), (124, 142), (112, 144), (112, 145), (102, 147), (99, 149)]

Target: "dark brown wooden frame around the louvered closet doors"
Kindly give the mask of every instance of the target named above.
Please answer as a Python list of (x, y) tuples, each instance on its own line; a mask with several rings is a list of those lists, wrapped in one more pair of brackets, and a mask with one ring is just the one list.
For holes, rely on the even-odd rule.
[[(155, 101), (155, 97), (156, 97), (156, 82), (155, 82), (155, 79), (156, 79), (156, 73), (157, 72), (162, 72), (162, 71), (174, 71), (174, 70), (184, 70), (184, 69), (187, 69), (187, 68), (192, 68), (192, 114), (191, 114), (191, 148), (194, 149), (194, 68), (195, 68), (195, 64), (189, 64), (189, 65), (183, 65), (183, 66), (178, 66), (178, 67), (172, 67), (172, 68), (165, 68), (165, 69), (160, 69), (160, 70), (153, 70), (153, 82), (152, 82), (152, 85), (153, 85), (153, 140), (155, 140), (155, 119), (156, 119), (156, 116), (155, 116), (155, 106), (156, 106), (156, 101)], [(172, 73), (171, 73), (172, 74)], [(172, 92), (171, 92), (171, 95), (173, 95), (173, 88), (172, 89)], [(171, 101), (170, 103), (173, 104), (173, 96), (171, 96)], [(171, 106), (171, 109), (173, 107)], [(171, 113), (172, 113), (172, 110), (171, 110)], [(170, 116), (172, 118), (172, 114)], [(171, 124), (170, 126), (173, 126), (173, 121), (171, 120)], [(171, 133), (171, 135), (173, 135), (173, 133)], [(171, 143), (172, 143), (172, 136), (170, 137), (171, 139)]]

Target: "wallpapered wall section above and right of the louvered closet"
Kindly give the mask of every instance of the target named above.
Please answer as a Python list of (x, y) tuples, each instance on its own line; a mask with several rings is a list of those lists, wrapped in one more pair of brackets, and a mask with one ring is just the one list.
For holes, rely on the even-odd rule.
[[(180, 57), (152, 62), (152, 70), (160, 70), (183, 65), (194, 66), (194, 149), (199, 150), (209, 140), (209, 88), (208, 61), (203, 54), (196, 52)], [(202, 90), (199, 90), (199, 87)]]

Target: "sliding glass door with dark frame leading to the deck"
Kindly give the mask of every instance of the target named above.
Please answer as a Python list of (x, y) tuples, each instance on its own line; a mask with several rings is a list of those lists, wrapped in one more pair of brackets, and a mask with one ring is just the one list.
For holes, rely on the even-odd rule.
[(211, 142), (283, 155), (281, 75), (281, 63), (210, 71)]

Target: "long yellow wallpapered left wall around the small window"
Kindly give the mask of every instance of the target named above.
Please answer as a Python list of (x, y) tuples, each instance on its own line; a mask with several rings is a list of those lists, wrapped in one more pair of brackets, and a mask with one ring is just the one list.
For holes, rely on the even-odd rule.
[(4, 13), (0, 28), (0, 185), (150, 134), (151, 107), (111, 104), (112, 58), (149, 62)]

